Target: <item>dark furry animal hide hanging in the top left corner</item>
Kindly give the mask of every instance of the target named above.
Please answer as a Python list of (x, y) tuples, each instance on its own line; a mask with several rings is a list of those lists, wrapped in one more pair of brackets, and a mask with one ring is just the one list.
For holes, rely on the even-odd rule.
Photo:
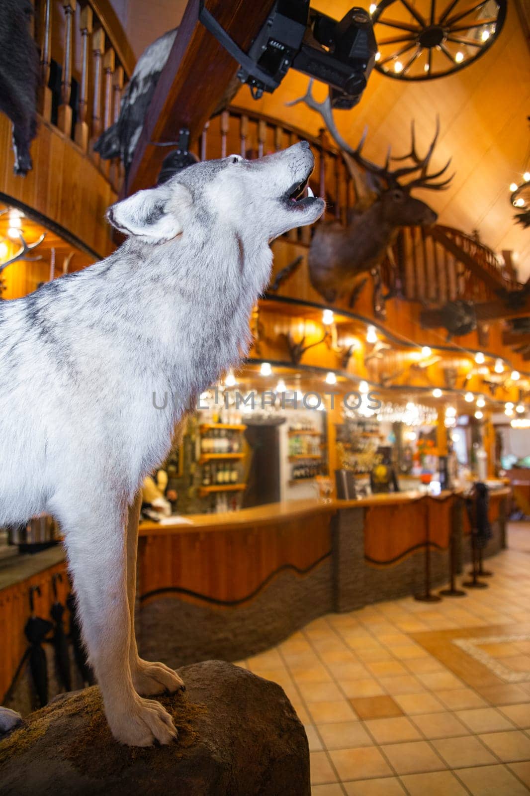
[(2, 0), (0, 14), (0, 111), (13, 122), (14, 173), (32, 168), (29, 144), (37, 134), (38, 57), (29, 32), (29, 0)]

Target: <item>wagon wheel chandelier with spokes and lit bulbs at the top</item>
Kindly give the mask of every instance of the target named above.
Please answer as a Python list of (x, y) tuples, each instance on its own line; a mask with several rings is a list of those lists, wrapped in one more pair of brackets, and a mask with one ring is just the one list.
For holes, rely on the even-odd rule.
[[(438, 0), (439, 2), (439, 0)], [(493, 45), (506, 0), (381, 0), (370, 6), (378, 72), (396, 80), (435, 80), (473, 64)]]

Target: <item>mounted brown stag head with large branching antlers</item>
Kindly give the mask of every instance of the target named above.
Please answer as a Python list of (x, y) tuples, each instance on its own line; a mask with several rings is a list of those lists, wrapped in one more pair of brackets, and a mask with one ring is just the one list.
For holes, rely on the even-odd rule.
[[(372, 203), (353, 210), (348, 224), (342, 227), (337, 222), (318, 224), (311, 242), (309, 252), (310, 281), (315, 290), (328, 303), (336, 301), (339, 295), (350, 295), (357, 298), (355, 283), (357, 276), (371, 271), (377, 290), (380, 291), (380, 262), (388, 247), (392, 244), (400, 227), (431, 226), (438, 216), (425, 202), (411, 196), (415, 188), (442, 190), (448, 187), (453, 175), (438, 181), (446, 174), (450, 160), (446, 165), (434, 172), (429, 172), (432, 154), (435, 151), (439, 135), (439, 122), (436, 120), (434, 138), (427, 149), (427, 154), (420, 157), (415, 140), (415, 126), (411, 123), (411, 150), (399, 158), (393, 158), (390, 148), (384, 166), (368, 160), (363, 155), (367, 130), (364, 130), (356, 147), (350, 146), (337, 130), (333, 119), (333, 110), (329, 96), (324, 102), (317, 102), (312, 94), (312, 84), (306, 94), (289, 103), (295, 105), (303, 102), (322, 116), (325, 127), (333, 141), (341, 150), (349, 174), (357, 186), (359, 194), (359, 167), (366, 174), (372, 191)], [(410, 160), (411, 165), (391, 168), (391, 162)], [(287, 266), (286, 276), (293, 269)], [(281, 274), (276, 278), (276, 285), (281, 283)], [(381, 297), (378, 302), (382, 303)], [(353, 306), (350, 300), (350, 306)]]

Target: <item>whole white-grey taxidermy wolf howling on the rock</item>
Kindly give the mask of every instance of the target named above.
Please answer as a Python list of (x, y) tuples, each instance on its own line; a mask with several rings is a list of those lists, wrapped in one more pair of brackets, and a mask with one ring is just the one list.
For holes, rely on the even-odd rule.
[[(110, 257), (0, 302), (0, 525), (43, 512), (60, 522), (84, 642), (123, 743), (169, 743), (170, 715), (140, 695), (183, 687), (138, 657), (134, 496), (197, 396), (246, 351), (269, 242), (322, 214), (322, 199), (289, 199), (313, 166), (307, 142), (189, 166), (108, 210), (129, 236)], [(0, 714), (0, 728), (12, 720)]]

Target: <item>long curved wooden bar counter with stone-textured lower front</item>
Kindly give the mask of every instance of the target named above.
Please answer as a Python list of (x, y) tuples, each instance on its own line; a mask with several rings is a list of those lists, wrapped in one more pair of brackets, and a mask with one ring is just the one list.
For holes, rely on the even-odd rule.
[[(505, 546), (509, 489), (490, 494), (491, 556)], [(238, 660), (278, 644), (330, 611), (419, 594), (428, 546), (431, 583), (469, 560), (462, 496), (418, 490), (353, 501), (289, 501), (236, 513), (195, 514), (170, 524), (142, 522), (138, 542), (137, 636), (143, 657), (185, 665)], [(52, 577), (65, 572), (60, 548), (0, 564), (0, 704), (24, 654), (29, 587), (49, 616)], [(60, 599), (68, 585), (59, 583)]]

